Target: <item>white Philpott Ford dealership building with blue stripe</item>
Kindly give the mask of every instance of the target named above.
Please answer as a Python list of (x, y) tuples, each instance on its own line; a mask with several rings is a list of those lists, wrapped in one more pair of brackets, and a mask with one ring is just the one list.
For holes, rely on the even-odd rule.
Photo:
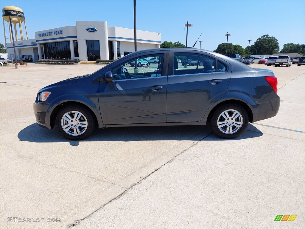
[[(137, 50), (160, 44), (160, 33), (137, 30)], [(134, 52), (134, 30), (108, 27), (106, 21), (76, 21), (76, 26), (37, 31), (35, 39), (15, 41), (15, 47), (17, 60), (116, 60)], [(13, 43), (7, 43), (7, 51), (15, 59)]]

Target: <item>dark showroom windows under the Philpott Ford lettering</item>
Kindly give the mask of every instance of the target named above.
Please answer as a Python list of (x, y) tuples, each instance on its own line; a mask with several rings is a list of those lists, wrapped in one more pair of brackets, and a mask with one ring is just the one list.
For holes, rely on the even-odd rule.
[(52, 42), (43, 44), (45, 59), (71, 59), (70, 42)]

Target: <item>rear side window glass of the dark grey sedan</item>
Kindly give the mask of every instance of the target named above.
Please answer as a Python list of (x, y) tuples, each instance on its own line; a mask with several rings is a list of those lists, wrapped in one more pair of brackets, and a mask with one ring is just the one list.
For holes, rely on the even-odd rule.
[(227, 67), (210, 56), (194, 53), (175, 53), (174, 55), (174, 75), (225, 71)]

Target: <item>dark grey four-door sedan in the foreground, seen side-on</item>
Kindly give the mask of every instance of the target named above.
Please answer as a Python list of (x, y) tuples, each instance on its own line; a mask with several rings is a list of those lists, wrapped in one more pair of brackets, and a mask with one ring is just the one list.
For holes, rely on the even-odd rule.
[[(156, 56), (156, 67), (130, 67)], [(198, 64), (181, 68), (178, 57)], [(34, 115), (39, 125), (56, 126), (70, 140), (88, 137), (95, 127), (206, 124), (231, 139), (248, 122), (274, 117), (279, 106), (271, 70), (202, 49), (163, 48), (133, 52), (92, 74), (42, 88)]]

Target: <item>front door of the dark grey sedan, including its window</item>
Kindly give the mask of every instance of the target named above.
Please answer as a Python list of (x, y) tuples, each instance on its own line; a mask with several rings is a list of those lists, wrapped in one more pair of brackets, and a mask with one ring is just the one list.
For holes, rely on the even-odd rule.
[[(154, 54), (156, 56), (156, 54)], [(99, 107), (103, 123), (139, 124), (166, 122), (167, 75), (164, 54), (138, 56), (112, 67), (112, 82), (101, 82)]]

